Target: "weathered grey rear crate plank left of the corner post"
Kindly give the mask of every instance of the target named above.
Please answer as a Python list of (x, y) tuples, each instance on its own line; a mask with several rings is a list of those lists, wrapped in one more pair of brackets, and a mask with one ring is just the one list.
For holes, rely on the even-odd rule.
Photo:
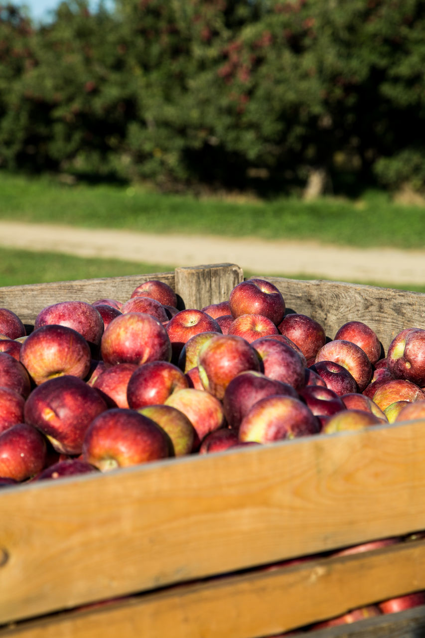
[(90, 304), (105, 297), (124, 302), (130, 299), (136, 286), (149, 279), (165, 281), (174, 290), (174, 272), (54, 281), (24, 286), (4, 286), (0, 288), (0, 307), (10, 309), (22, 322), (31, 325), (38, 313), (50, 304), (72, 300), (86, 301)]

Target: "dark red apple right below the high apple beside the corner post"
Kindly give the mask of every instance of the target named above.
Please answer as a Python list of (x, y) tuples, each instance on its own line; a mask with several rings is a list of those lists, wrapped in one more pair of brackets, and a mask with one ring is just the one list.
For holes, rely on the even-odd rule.
[(281, 334), (288, 337), (301, 349), (306, 359), (317, 355), (326, 343), (324, 327), (315, 319), (301, 313), (291, 313), (278, 325)]

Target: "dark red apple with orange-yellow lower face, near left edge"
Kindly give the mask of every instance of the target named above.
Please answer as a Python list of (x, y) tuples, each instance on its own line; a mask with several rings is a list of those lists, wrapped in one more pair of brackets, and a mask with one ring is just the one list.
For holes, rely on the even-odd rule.
[(19, 353), (36, 385), (60, 375), (85, 378), (91, 366), (86, 339), (64, 325), (43, 325), (27, 336)]

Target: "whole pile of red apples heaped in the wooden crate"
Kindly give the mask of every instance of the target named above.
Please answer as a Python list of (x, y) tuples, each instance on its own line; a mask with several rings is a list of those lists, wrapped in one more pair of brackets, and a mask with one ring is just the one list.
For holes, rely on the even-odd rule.
[(202, 310), (145, 281), (47, 306), (30, 334), (1, 308), (0, 486), (424, 417), (424, 329), (385, 356), (365, 323), (330, 339), (285, 310), (263, 279)]

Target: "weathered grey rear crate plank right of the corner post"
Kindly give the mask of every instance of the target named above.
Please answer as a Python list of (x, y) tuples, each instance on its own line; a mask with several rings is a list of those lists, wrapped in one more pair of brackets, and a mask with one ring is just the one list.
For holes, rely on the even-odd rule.
[(341, 281), (264, 279), (278, 286), (288, 309), (312, 316), (330, 339), (343, 323), (358, 320), (377, 332), (386, 353), (400, 330), (425, 328), (425, 293)]

